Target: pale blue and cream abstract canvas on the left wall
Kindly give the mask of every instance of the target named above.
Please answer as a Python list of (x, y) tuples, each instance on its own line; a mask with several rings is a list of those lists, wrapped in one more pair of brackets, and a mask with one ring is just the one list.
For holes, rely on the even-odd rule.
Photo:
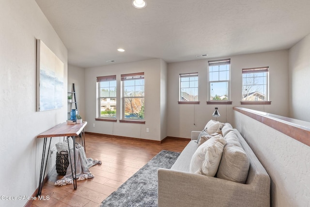
[(36, 111), (62, 108), (63, 63), (37, 39), (37, 101)]

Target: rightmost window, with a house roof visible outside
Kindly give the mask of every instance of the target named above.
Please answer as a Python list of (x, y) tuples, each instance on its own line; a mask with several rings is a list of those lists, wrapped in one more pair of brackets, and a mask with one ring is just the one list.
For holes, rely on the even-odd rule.
[(242, 69), (242, 100), (268, 101), (269, 67)]

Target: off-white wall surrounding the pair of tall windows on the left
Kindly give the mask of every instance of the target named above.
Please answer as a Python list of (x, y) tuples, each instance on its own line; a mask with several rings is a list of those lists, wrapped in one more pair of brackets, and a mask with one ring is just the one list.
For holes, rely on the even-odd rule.
[[(87, 132), (109, 134), (133, 138), (142, 138), (148, 140), (160, 141), (162, 136), (161, 126), (165, 125), (165, 118), (161, 117), (160, 111), (164, 110), (165, 103), (161, 99), (161, 91), (165, 90), (164, 83), (161, 83), (161, 75), (165, 73), (165, 68), (162, 69), (161, 59), (153, 59), (147, 61), (133, 62), (127, 64), (112, 64), (108, 66), (92, 67), (85, 69), (85, 111)], [(145, 124), (131, 124), (95, 121), (97, 118), (97, 84), (96, 77), (116, 75), (117, 81), (117, 107), (116, 111), (121, 111), (121, 75), (144, 72), (145, 80)], [(162, 85), (163, 84), (163, 85)], [(117, 120), (120, 120), (121, 114), (117, 113)], [(95, 124), (95, 127), (93, 127)], [(149, 128), (149, 132), (146, 132)]]

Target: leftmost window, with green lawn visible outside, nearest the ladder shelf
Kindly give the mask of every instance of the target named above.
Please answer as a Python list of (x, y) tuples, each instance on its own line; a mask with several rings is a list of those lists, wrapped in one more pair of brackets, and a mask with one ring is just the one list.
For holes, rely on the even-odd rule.
[(116, 118), (116, 76), (97, 77), (99, 118)]

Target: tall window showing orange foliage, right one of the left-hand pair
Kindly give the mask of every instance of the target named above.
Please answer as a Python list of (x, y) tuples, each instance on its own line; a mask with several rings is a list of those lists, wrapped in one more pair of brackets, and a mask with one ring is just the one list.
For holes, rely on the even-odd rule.
[(121, 75), (123, 119), (144, 120), (144, 73)]

